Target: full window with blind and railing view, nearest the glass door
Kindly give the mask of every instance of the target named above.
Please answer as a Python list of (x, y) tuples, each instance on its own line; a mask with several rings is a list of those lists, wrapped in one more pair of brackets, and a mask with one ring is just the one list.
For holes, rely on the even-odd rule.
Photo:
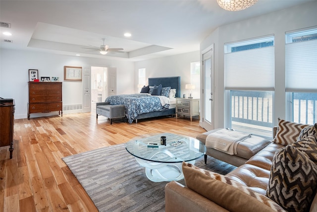
[(226, 126), (272, 136), (274, 37), (224, 46), (225, 89), (230, 110)]

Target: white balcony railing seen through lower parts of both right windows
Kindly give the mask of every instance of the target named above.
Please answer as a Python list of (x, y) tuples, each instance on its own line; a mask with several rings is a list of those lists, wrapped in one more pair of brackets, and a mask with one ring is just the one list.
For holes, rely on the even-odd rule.
[[(317, 93), (293, 93), (293, 121), (317, 123)], [(267, 91), (231, 91), (231, 128), (272, 136), (273, 93)]]

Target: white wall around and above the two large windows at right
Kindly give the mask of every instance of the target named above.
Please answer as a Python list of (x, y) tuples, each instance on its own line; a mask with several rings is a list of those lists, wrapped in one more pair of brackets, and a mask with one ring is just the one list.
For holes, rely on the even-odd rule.
[(317, 1), (272, 12), (259, 17), (219, 27), (200, 46), (201, 51), (215, 44), (215, 76), (217, 90), (214, 103), (215, 128), (225, 126), (224, 104), (224, 44), (229, 42), (274, 35), (275, 37), (275, 92), (273, 125), (277, 118), (285, 118), (285, 32), (317, 26)]

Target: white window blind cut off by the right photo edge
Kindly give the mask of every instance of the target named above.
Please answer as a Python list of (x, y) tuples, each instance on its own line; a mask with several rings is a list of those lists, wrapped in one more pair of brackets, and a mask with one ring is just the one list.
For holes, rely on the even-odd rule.
[(317, 40), (286, 44), (286, 92), (317, 92)]

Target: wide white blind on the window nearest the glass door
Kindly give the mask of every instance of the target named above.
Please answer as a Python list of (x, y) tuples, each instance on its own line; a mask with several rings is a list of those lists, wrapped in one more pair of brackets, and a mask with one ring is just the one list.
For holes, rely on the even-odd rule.
[(274, 46), (224, 55), (226, 90), (274, 90)]

